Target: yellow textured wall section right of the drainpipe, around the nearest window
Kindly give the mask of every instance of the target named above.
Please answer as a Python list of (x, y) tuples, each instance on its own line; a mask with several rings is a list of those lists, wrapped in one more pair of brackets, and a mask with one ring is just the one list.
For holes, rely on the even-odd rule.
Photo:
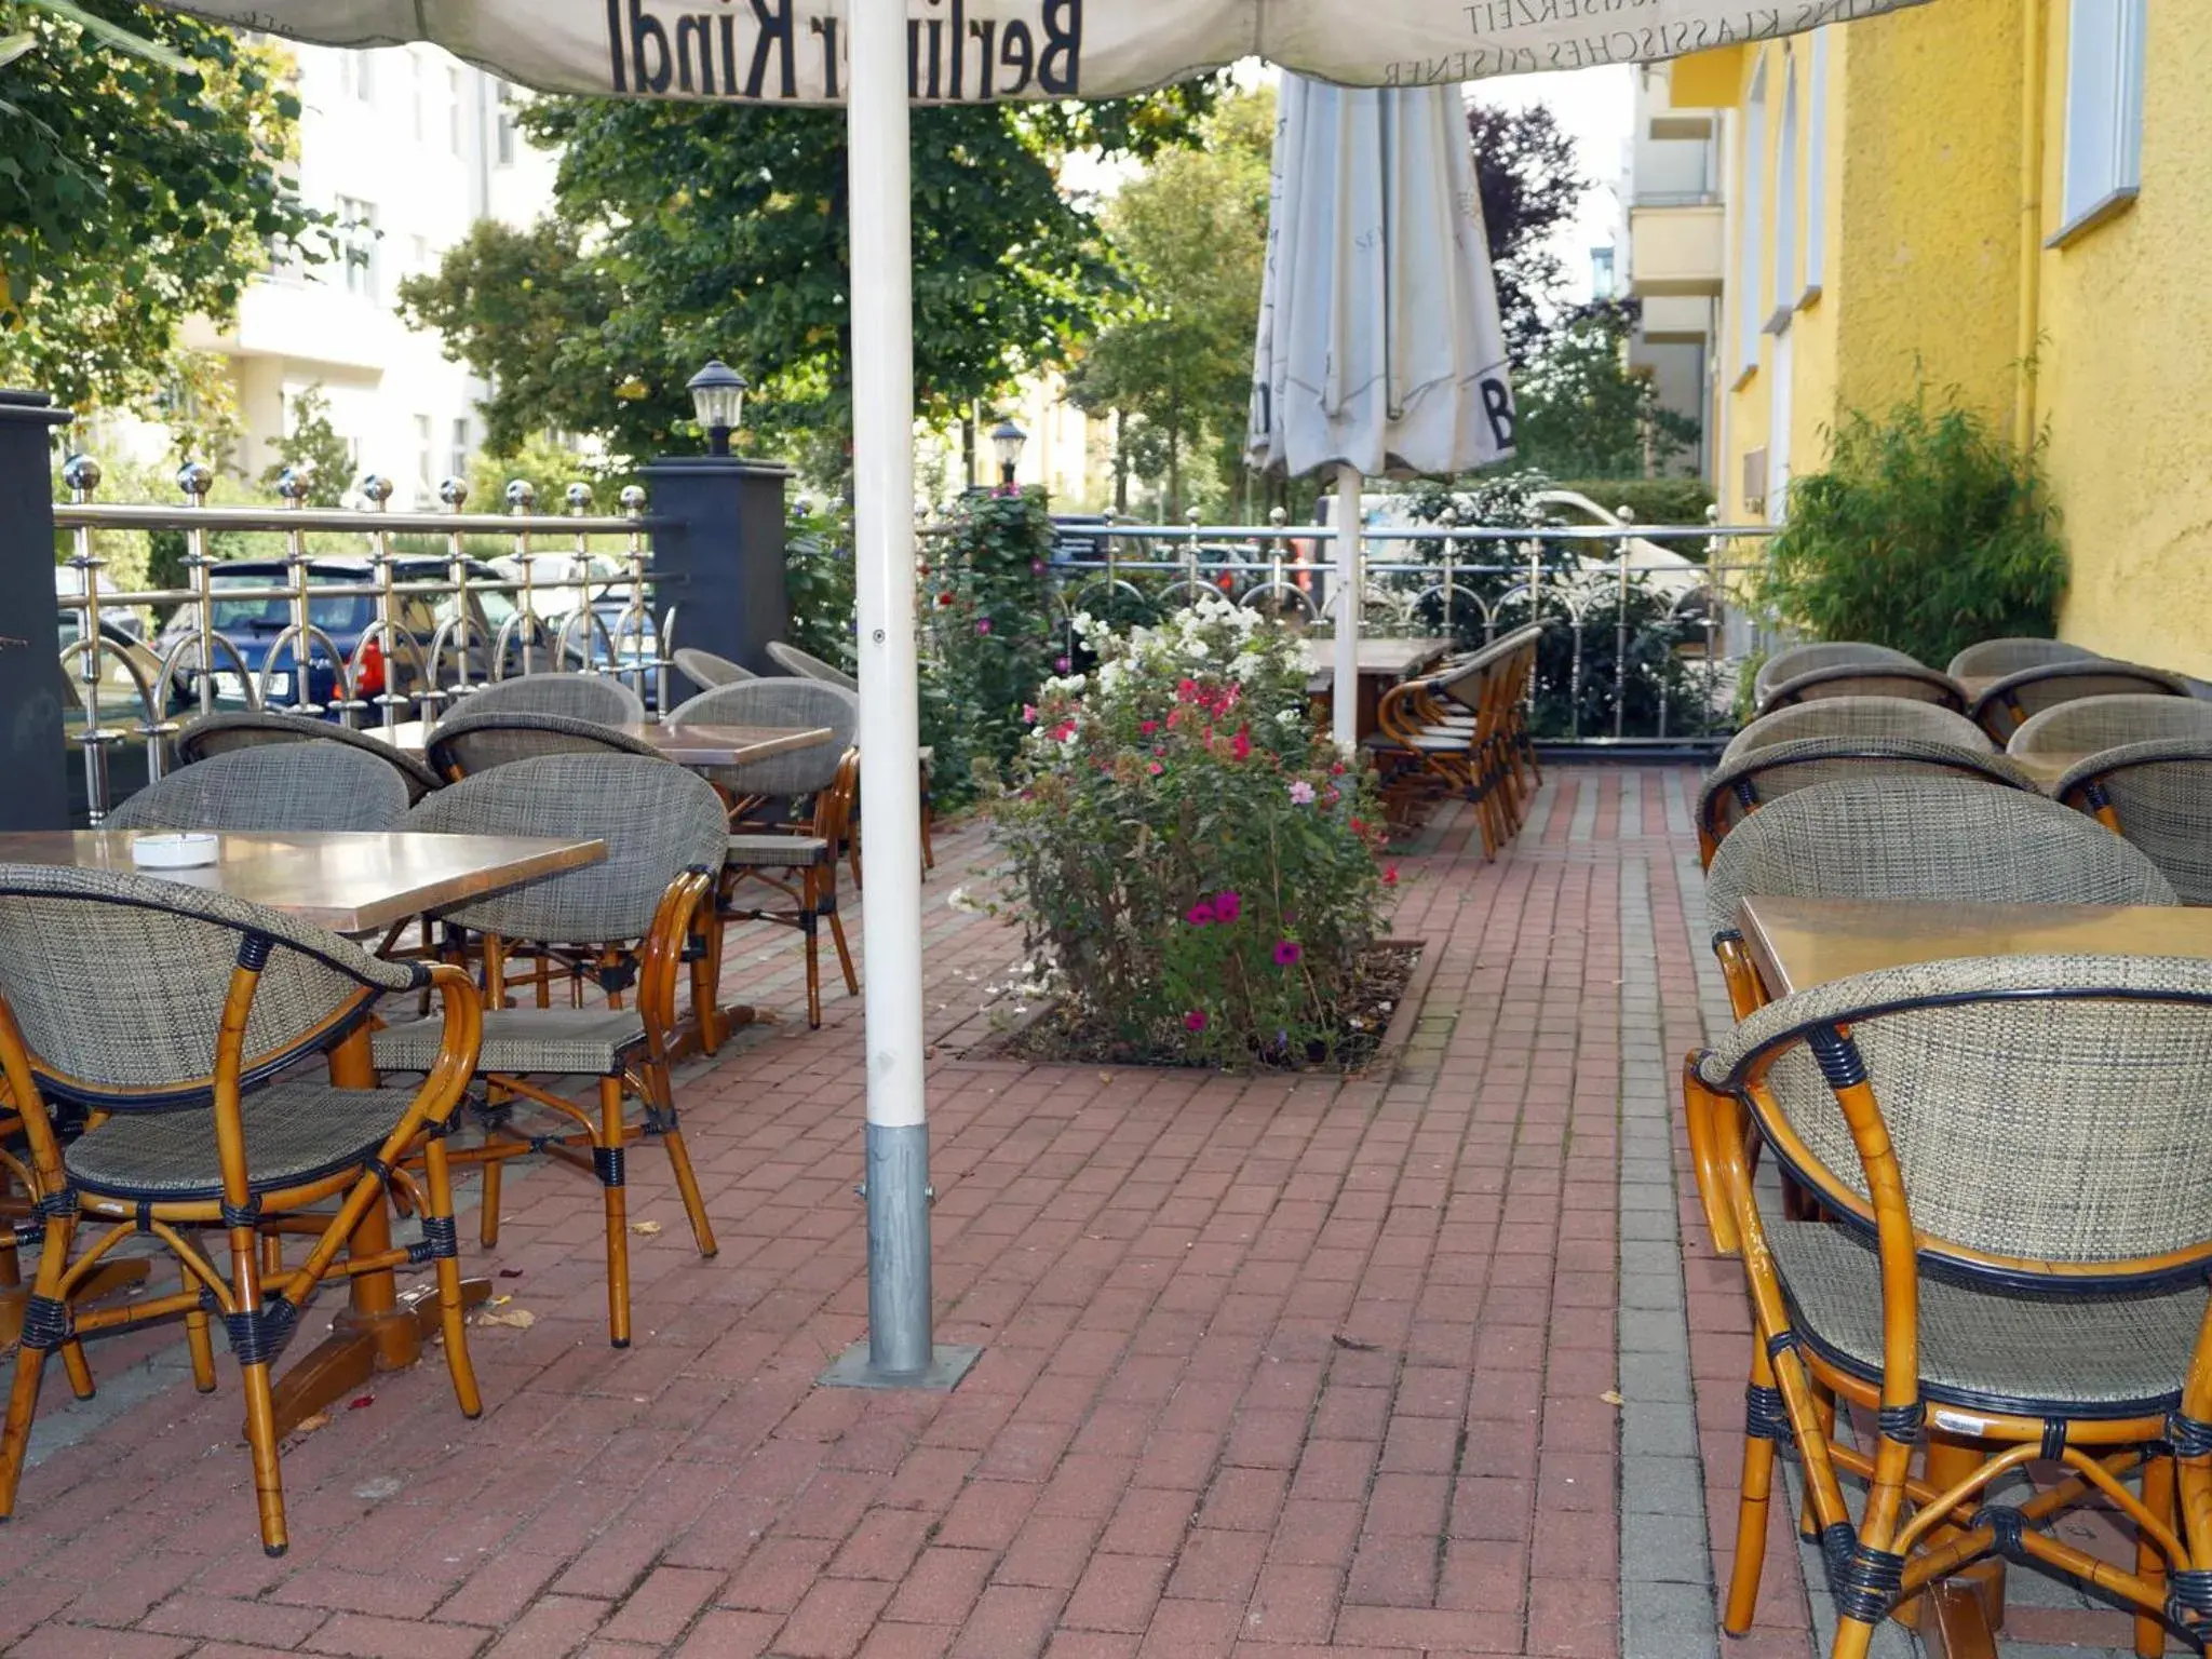
[[(1931, 7), (1940, 11), (1940, 7)], [(2044, 228), (2066, 137), (2066, 4), (2051, 4)], [(2042, 257), (2037, 414), (2073, 553), (2068, 639), (2212, 677), (2212, 35), (2152, 0), (2143, 186), (2132, 208)]]

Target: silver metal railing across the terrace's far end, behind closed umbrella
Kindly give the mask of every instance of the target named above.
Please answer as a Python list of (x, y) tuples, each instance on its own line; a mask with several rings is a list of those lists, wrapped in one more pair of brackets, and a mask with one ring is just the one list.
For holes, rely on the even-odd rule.
[[(925, 535), (945, 535), (931, 526)], [(1750, 606), (1767, 524), (1420, 524), (1363, 531), (1360, 626), (1475, 646), (1553, 624), (1533, 701), (1546, 737), (1604, 745), (1719, 739), (1734, 730), (1736, 670), (1765, 644)], [(1077, 611), (1124, 613), (1228, 595), (1303, 626), (1338, 615), (1327, 524), (1062, 526), (1051, 573), (1073, 646)], [(958, 580), (931, 560), (931, 580)], [(936, 608), (925, 604), (925, 615)], [(1610, 661), (1604, 657), (1610, 655)]]

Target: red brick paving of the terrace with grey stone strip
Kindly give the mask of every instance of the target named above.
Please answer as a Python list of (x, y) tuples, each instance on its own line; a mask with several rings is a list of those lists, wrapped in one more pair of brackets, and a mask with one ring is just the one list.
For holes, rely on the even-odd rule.
[[(940, 902), (987, 858), (945, 836), (938, 1336), (984, 1347), (951, 1396), (814, 1383), (867, 1305), (860, 1009), (832, 993), (810, 1033), (790, 936), (734, 936), (726, 989), (787, 1018), (679, 1084), (717, 1261), (633, 1159), (659, 1223), (633, 1349), (604, 1340), (591, 1186), (511, 1175), (467, 1259), (535, 1323), (471, 1332), (484, 1418), (436, 1360), (376, 1378), (288, 1447), (270, 1562), (234, 1371), (199, 1398), (173, 1336), (102, 1343), (95, 1402), (46, 1389), (0, 1648), (1719, 1652), (1745, 1336), (1672, 1106), (1717, 998), (1690, 790), (1559, 768), (1495, 865), (1442, 814), (1400, 860), (1396, 931), (1436, 953), (1418, 1029), (1354, 1079), (964, 1057), (1018, 940)], [(1814, 1652), (1776, 1528), (1743, 1659)]]

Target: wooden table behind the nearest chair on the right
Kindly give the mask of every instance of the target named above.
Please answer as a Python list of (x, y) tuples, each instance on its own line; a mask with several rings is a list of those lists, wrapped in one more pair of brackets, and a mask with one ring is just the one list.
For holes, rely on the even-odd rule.
[[(1776, 998), (1851, 973), (1962, 956), (2194, 956), (2212, 960), (2212, 914), (2168, 905), (1931, 905), (1860, 898), (1745, 898), (1736, 925)], [(1927, 1478), (1964, 1480), (1971, 1440), (1929, 1431)], [(1978, 1562), (1898, 1608), (1938, 1659), (1993, 1659), (2004, 1628), (2004, 1562)]]

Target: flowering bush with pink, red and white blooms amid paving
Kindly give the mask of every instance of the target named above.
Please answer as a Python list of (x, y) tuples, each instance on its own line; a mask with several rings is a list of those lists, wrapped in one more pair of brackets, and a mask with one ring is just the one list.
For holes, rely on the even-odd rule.
[(993, 805), (1053, 1000), (1024, 1048), (1358, 1064), (1405, 982), (1405, 953), (1376, 951), (1398, 876), (1371, 774), (1312, 726), (1296, 639), (1225, 599), (1075, 628), (1097, 668), (1044, 681)]

